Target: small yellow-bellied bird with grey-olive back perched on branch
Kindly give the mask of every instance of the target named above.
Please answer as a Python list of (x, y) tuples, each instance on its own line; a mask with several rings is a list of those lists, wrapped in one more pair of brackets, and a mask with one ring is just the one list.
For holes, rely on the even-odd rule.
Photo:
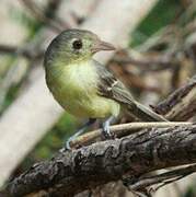
[(57, 35), (45, 51), (45, 79), (53, 96), (69, 114), (89, 119), (67, 140), (67, 149), (96, 119), (104, 120), (103, 136), (112, 137), (109, 125), (122, 108), (142, 121), (168, 121), (137, 102), (111, 70), (93, 59), (102, 50), (115, 47), (90, 31), (70, 28)]

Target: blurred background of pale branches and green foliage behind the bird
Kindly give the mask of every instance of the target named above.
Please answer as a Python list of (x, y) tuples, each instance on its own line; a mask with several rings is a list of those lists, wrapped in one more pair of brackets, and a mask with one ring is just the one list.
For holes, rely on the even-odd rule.
[[(1, 186), (35, 162), (50, 159), (84, 121), (64, 112), (44, 82), (44, 51), (62, 30), (92, 26), (114, 43), (118, 50), (97, 59), (146, 105), (155, 105), (195, 74), (195, 0), (123, 0), (118, 11), (111, 2), (0, 0)], [(113, 12), (117, 16), (107, 24)], [(118, 119), (126, 121), (126, 115)], [(194, 197), (195, 181), (185, 178), (158, 196)]]

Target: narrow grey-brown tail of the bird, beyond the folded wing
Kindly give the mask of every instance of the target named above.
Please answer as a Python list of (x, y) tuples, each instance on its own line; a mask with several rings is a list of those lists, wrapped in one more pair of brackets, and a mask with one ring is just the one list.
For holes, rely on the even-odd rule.
[(135, 102), (134, 113), (137, 118), (145, 120), (145, 121), (169, 121), (163, 116), (154, 113), (150, 108), (146, 107), (145, 105)]

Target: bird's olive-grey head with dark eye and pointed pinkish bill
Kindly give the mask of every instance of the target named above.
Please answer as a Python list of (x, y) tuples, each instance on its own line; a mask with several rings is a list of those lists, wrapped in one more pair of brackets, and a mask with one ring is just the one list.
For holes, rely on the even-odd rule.
[(45, 65), (53, 60), (74, 63), (91, 59), (101, 50), (114, 50), (112, 44), (105, 43), (90, 31), (66, 30), (53, 39), (45, 54)]

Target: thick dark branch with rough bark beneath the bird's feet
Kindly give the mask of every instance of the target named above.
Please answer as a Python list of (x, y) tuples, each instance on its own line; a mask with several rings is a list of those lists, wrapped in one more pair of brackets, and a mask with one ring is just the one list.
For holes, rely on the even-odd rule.
[(196, 162), (196, 126), (142, 130), (123, 139), (97, 142), (58, 153), (38, 163), (10, 184), (12, 196), (46, 190), (72, 196), (88, 188), (137, 177), (163, 167)]

